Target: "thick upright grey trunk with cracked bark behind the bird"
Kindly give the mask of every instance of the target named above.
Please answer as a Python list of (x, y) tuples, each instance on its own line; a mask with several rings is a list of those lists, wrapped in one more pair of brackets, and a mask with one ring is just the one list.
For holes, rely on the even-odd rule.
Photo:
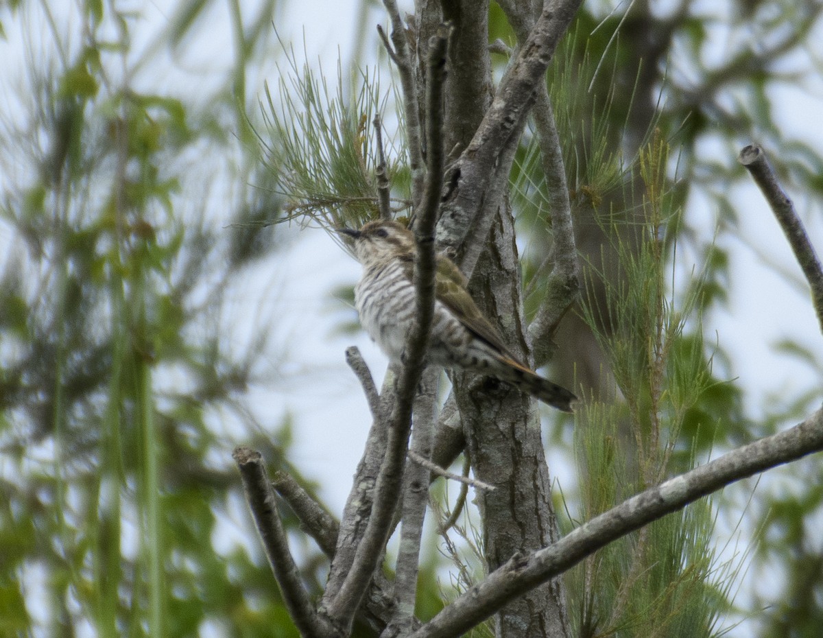
[[(421, 0), (417, 9), (418, 58), (423, 58), (430, 30), (441, 17), (453, 24), (444, 142), (445, 151), (456, 156), (472, 142), (493, 97), (488, 5), (474, 0)], [(519, 355), (527, 351), (526, 330), (507, 193), (511, 156), (522, 130), (514, 130), (513, 142), (501, 153), (499, 165), (505, 169), (484, 175), (490, 184), (458, 256), (463, 257), (463, 268), (472, 277), (472, 296), (487, 316), (497, 320), (509, 346)], [(528, 356), (523, 360), (528, 361)], [(557, 537), (540, 420), (534, 403), (509, 386), (490, 386), (473, 375), (455, 381), (475, 476), (498, 487), (477, 497), (486, 566), (491, 571), (514, 554), (545, 547)], [(506, 638), (568, 636), (560, 584), (542, 585), (510, 603), (499, 613), (496, 628), (497, 636)]]

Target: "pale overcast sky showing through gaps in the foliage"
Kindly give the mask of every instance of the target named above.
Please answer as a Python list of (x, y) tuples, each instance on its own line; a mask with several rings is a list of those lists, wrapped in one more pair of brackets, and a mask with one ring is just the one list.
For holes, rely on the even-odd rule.
[[(160, 2), (134, 4), (140, 7), (144, 16), (133, 31), (139, 49), (153, 40), (157, 29), (168, 21), (169, 16), (164, 13)], [(244, 11), (253, 15), (254, 6), (255, 3), (244, 2)], [(374, 32), (370, 30), (357, 35), (357, 38), (352, 37), (358, 6), (356, 2), (324, 0), (287, 2), (275, 22), (281, 37), (295, 43), (299, 62), (302, 61), (305, 42), (309, 60), (321, 60), (324, 69), (331, 73), (337, 68), (338, 55), (342, 54), (344, 60), (351, 58), (351, 43), (355, 40), (365, 42), (365, 61), (374, 61)], [(717, 2), (695, 2), (695, 6), (705, 7), (705, 11), (723, 10)], [(37, 7), (27, 11), (32, 14), (27, 28), (42, 28)], [(71, 9), (67, 14), (67, 24), (72, 24), (73, 11), (76, 10)], [(196, 86), (198, 81), (207, 82), (210, 74), (226, 72), (230, 68), (232, 44), (226, 11), (225, 4), (215, 8), (214, 15), (209, 16), (212, 21), (210, 28), (198, 31), (202, 43), (193, 49), (186, 48), (187, 52), (195, 52), (192, 58), (170, 60), (173, 63), (171, 66), (176, 66), (179, 71), (168, 69), (158, 76), (158, 81), (165, 86), (174, 86), (181, 81), (184, 86), (191, 87)], [(380, 20), (385, 24), (380, 12), (372, 11), (370, 15), (374, 16), (373, 23)], [(0, 42), (0, 59), (4, 60), (0, 69), (3, 93), (0, 109), (13, 116), (20, 106), (8, 87), (16, 86), (24, 68), (25, 39), (15, 31), (20, 21), (8, 18), (6, 10), (0, 11), (0, 16), (7, 30), (7, 41)], [(722, 22), (715, 25), (711, 32), (717, 40), (714, 54), (718, 61), (728, 51), (730, 41), (746, 35), (730, 34)], [(49, 41), (48, 34), (45, 41)], [(821, 56), (823, 33), (816, 34), (809, 41)], [(180, 80), (178, 72), (180, 77), (186, 79)], [(385, 74), (387, 69), (384, 68), (383, 72)], [(681, 72), (687, 73), (688, 70), (684, 68)], [(248, 85), (250, 95), (262, 91), (263, 80), (268, 80), (272, 85), (277, 80), (277, 71), (273, 66), (252, 70), (249, 75), (252, 76)], [(144, 83), (152, 81), (151, 75), (146, 73), (137, 80)], [(818, 148), (823, 147), (823, 83), (820, 77), (810, 76), (803, 78), (799, 84), (802, 86), (787, 84), (774, 92), (774, 117), (786, 137), (800, 137)], [(732, 96), (728, 99), (731, 100)], [(741, 147), (752, 141), (757, 140), (741, 140)], [(707, 139), (699, 151), (706, 154), (727, 153), (725, 147), (711, 139)], [(774, 149), (767, 148), (766, 151), (774, 152)], [(779, 162), (779, 157), (774, 157), (774, 161)], [(821, 204), (812, 203), (804, 193), (793, 189), (793, 184), (785, 184), (785, 187), (807, 222), (812, 243), (823, 247)], [(724, 236), (721, 243), (732, 258), (730, 307), (714, 311), (704, 318), (705, 338), (707, 342), (716, 338), (731, 355), (730, 373), (740, 378), (746, 389), (746, 409), (751, 417), (758, 418), (775, 397), (791, 399), (801, 390), (820, 382), (819, 370), (812, 370), (797, 359), (775, 352), (774, 343), (792, 339), (815, 352), (818, 361), (823, 361), (823, 339), (805, 286), (788, 282), (785, 273), (791, 273), (797, 280), (800, 277), (799, 268), (760, 193), (750, 185), (736, 189), (732, 196), (743, 223), (741, 236)], [(686, 215), (690, 224), (698, 227), (705, 239), (714, 235), (717, 211), (708, 198), (695, 193), (690, 198)], [(220, 219), (219, 213), (216, 216), (216, 224), (222, 226), (228, 221), (228, 217)], [(296, 229), (291, 232), (298, 235)], [(12, 231), (0, 225), (0, 242), (8, 245), (13, 239)], [(681, 262), (677, 272), (681, 276), (687, 276), (693, 266), (700, 269), (700, 264), (689, 261), (694, 255), (687, 251), (679, 254), (679, 258)], [(277, 307), (277, 316), (281, 321), (277, 325), (279, 336), (276, 342), (289, 356), (285, 368), (288, 377), (281, 380), (279, 387), (256, 388), (253, 394), (261, 414), (291, 412), (296, 442), (292, 460), (303, 473), (319, 481), (323, 498), (335, 512), (342, 509), (351, 487), (349, 477), (360, 458), (370, 425), (365, 400), (354, 375), (345, 366), (344, 350), (349, 345), (359, 346), (378, 383), (382, 380), (386, 363), (384, 356), (364, 333), (342, 337), (335, 332), (341, 319), (351, 317), (345, 309), (333, 311), (341, 306), (332, 299), (332, 291), (337, 286), (353, 284), (359, 272), (359, 266), (342, 253), (323, 231), (300, 231), (284, 254), (278, 254), (277, 260), (272, 260), (272, 263), (259, 264), (249, 274), (244, 289), (236, 291), (238, 314), (231, 323), (236, 330), (232, 338), (240, 346), (247, 338), (249, 328), (253, 327), (254, 316), (249, 316), (249, 306), (268, 310)], [(278, 366), (279, 361), (272, 361), (272, 369)], [(238, 440), (238, 444), (242, 442)], [(563, 473), (568, 468), (564, 469), (556, 463), (552, 467), (560, 468), (560, 478), (563, 480)]]

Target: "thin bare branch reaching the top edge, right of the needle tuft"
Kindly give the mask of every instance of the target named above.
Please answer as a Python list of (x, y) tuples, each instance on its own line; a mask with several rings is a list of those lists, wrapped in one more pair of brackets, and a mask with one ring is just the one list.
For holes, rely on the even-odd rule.
[[(425, 170), (423, 165), (423, 147), (421, 141), (420, 110), (417, 105), (417, 91), (414, 81), (414, 64), (406, 41), (406, 30), (398, 10), (396, 0), (383, 0), (388, 19), (392, 22), (392, 42), (394, 54), (389, 49), (389, 57), (398, 67), (400, 86), (403, 93), (403, 112), (406, 116), (406, 142), (409, 153), (409, 170), (412, 173), (412, 202), (420, 203), (423, 193)], [(382, 33), (382, 29), (379, 32)], [(388, 44), (385, 41), (384, 44)], [(386, 47), (388, 49), (388, 46)]]

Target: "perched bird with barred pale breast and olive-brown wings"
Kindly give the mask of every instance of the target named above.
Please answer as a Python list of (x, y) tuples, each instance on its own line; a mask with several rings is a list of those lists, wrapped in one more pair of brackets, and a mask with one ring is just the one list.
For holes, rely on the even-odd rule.
[[(359, 231), (340, 228), (337, 232), (354, 240), (357, 260), (363, 266), (355, 286), (360, 324), (389, 359), (400, 361), (415, 313), (414, 234), (397, 221), (384, 220), (370, 221)], [(493, 376), (571, 412), (574, 394), (518, 361), (477, 308), (467, 283), (449, 258), (437, 256), (435, 316), (427, 363)]]

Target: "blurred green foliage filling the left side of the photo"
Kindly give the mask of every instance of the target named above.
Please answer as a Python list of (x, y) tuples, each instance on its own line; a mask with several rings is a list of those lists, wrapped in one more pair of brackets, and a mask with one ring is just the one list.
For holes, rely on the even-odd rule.
[(221, 319), (278, 246), (249, 226), (278, 200), (236, 189), (220, 207), (239, 226), (210, 219), (198, 179), (244, 184), (258, 162), (202, 114), (231, 114), (234, 83), (205, 104), (140, 91), (119, 72), (132, 18), (90, 2), (53, 30), (61, 61), (27, 69), (32, 118), (0, 142), (0, 634), (296, 636), (256, 548), (216, 547), (244, 512), (226, 432), (287, 464), (287, 424), (245, 398), (265, 338), (237, 352)]

